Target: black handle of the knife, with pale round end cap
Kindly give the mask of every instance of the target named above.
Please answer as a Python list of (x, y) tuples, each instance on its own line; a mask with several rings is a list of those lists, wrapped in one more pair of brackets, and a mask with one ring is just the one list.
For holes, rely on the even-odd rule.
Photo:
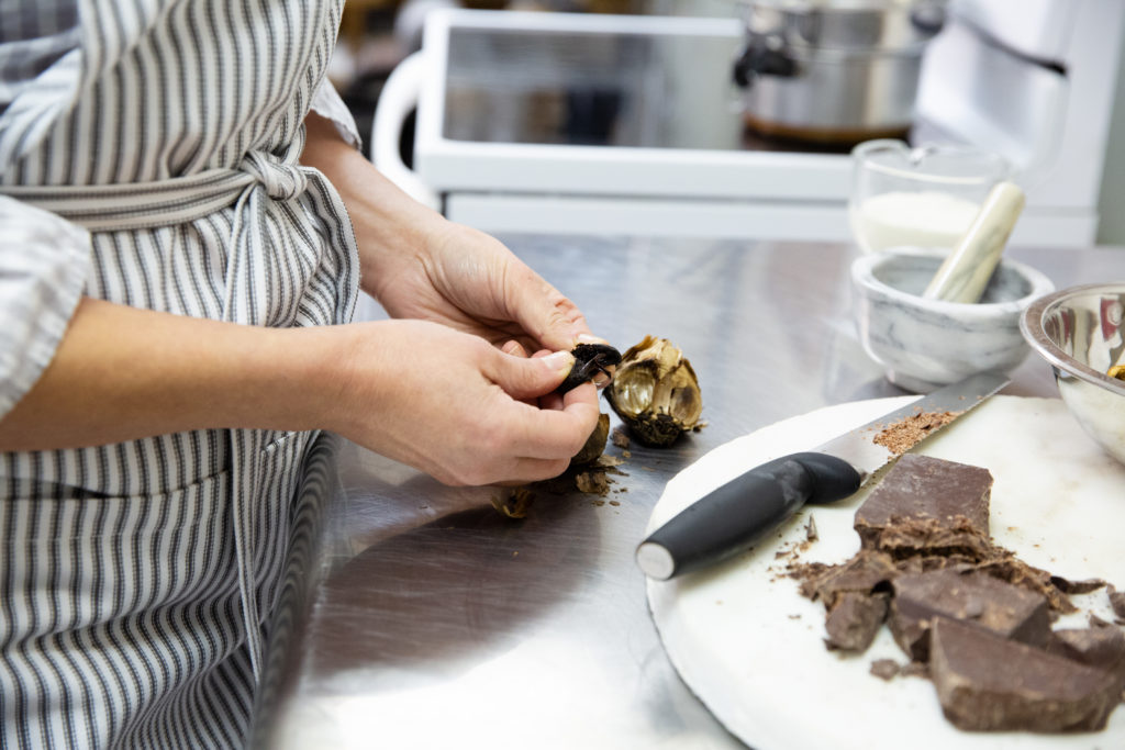
[(708, 493), (637, 548), (637, 563), (666, 580), (753, 546), (806, 503), (855, 494), (862, 477), (826, 453), (793, 453), (750, 469)]

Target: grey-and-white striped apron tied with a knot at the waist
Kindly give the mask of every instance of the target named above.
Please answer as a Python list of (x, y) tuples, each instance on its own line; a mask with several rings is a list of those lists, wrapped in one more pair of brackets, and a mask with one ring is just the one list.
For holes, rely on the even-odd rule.
[[(91, 231), (86, 293), (350, 319), (351, 225), (297, 164), (343, 0), (74, 1), (79, 48), (42, 76), (65, 96), (6, 134), (0, 192)], [(0, 454), (0, 746), (243, 744), (313, 437)]]

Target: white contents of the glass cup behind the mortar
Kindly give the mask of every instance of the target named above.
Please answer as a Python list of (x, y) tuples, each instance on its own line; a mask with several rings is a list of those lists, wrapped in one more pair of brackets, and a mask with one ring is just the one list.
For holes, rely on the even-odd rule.
[(852, 235), (868, 252), (898, 245), (952, 249), (979, 209), (947, 192), (884, 192), (850, 208)]

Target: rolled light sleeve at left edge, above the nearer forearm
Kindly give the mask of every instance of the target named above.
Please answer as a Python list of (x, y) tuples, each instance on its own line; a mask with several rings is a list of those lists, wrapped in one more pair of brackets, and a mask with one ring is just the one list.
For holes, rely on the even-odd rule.
[(0, 417), (55, 355), (90, 271), (90, 234), (0, 196)]

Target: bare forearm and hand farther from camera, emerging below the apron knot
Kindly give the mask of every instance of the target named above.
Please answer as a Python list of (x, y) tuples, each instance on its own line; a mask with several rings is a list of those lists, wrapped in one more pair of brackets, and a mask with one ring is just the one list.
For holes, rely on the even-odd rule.
[(497, 346), (515, 341), (526, 352), (569, 351), (591, 335), (574, 302), (500, 241), (410, 198), (324, 118), (310, 114), (306, 130), (302, 162), (339, 190), (360, 283), (392, 317), (441, 323)]

